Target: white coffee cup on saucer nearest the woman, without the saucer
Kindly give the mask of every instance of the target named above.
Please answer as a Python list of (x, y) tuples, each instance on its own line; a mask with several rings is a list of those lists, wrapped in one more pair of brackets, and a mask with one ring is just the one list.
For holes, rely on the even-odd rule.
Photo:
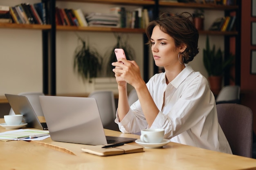
[(141, 130), (140, 140), (144, 143), (161, 143), (164, 139), (164, 129)]

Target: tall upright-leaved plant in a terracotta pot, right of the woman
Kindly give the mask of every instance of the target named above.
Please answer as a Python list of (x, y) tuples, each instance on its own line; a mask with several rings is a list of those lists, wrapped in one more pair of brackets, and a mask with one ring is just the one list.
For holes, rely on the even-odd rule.
[(225, 60), (219, 48), (215, 51), (215, 45), (210, 48), (209, 36), (206, 39), (206, 49), (203, 49), (203, 62), (204, 67), (208, 73), (209, 84), (213, 94), (217, 95), (222, 86), (222, 76), (227, 71), (234, 61), (234, 55), (230, 54)]

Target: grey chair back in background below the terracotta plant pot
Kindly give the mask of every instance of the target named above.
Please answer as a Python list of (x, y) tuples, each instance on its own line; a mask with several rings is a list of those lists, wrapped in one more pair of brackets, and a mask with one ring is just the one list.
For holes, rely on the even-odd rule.
[(216, 98), (216, 103), (240, 104), (240, 86), (224, 86)]

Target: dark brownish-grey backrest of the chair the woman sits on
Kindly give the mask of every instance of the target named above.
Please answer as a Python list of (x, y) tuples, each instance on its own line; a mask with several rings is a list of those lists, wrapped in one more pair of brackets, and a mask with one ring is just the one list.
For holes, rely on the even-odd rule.
[(252, 157), (252, 110), (234, 103), (217, 104), (222, 128), (234, 155)]

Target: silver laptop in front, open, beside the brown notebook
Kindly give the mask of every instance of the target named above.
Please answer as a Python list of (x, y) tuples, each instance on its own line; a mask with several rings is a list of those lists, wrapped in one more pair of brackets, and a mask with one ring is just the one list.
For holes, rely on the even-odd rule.
[(39, 96), (52, 140), (104, 145), (135, 141), (105, 136), (97, 102), (90, 97)]

